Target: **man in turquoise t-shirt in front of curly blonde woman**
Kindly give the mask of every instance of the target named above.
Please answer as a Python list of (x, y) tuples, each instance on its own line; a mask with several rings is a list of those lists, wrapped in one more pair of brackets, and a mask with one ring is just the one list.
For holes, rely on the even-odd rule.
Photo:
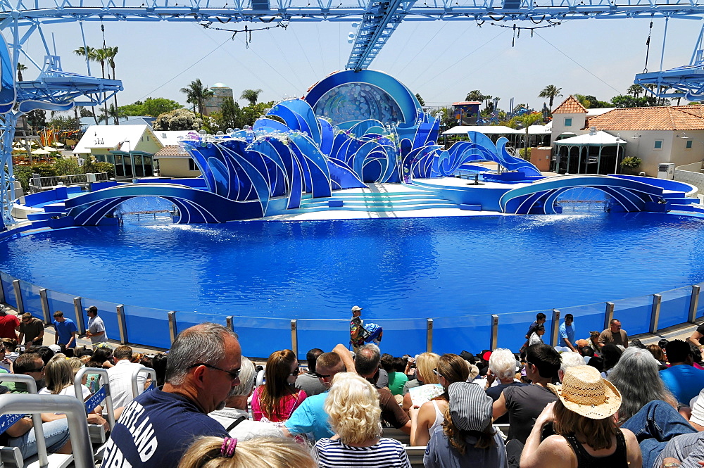
[(336, 353), (322, 353), (315, 362), (315, 375), (327, 388), (325, 393), (309, 396), (294, 410), (291, 417), (284, 423), (284, 434), (298, 436), (299, 434), (313, 434), (319, 441), (323, 437), (334, 436), (327, 421), (328, 416), (323, 409), (327, 393), (332, 386), (332, 378), (338, 372), (344, 372), (345, 365)]

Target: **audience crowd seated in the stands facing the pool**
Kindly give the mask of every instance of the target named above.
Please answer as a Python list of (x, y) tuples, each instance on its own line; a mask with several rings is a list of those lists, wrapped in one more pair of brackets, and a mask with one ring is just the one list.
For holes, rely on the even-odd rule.
[[(77, 398), (106, 384), (111, 394), (86, 417), (109, 434), (104, 467), (410, 468), (401, 441), (424, 448), (433, 468), (704, 466), (704, 325), (686, 341), (643, 346), (619, 320), (580, 332), (567, 315), (553, 347), (538, 314), (516, 350), (394, 357), (355, 341), (313, 348), (303, 366), (289, 349), (257, 366), (218, 324), (144, 355), (106, 341), (99, 312), (87, 311), (91, 347), (77, 346), (58, 312), (51, 346), (31, 315), (0, 320), (0, 381), (23, 374), (39, 393), (77, 396), (88, 368)], [(30, 391), (1, 383), (0, 394)], [(65, 415), (41, 419), (49, 452), (71, 453)], [(0, 445), (36, 455), (32, 419), (6, 429)]]

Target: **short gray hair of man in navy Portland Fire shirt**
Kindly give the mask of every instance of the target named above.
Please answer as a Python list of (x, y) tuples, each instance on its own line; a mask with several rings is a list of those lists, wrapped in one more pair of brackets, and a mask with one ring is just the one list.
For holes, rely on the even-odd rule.
[(210, 322), (182, 331), (169, 350), (165, 381), (182, 385), (194, 365), (199, 362), (216, 365), (225, 359), (225, 336), (237, 339), (237, 334), (231, 329)]

